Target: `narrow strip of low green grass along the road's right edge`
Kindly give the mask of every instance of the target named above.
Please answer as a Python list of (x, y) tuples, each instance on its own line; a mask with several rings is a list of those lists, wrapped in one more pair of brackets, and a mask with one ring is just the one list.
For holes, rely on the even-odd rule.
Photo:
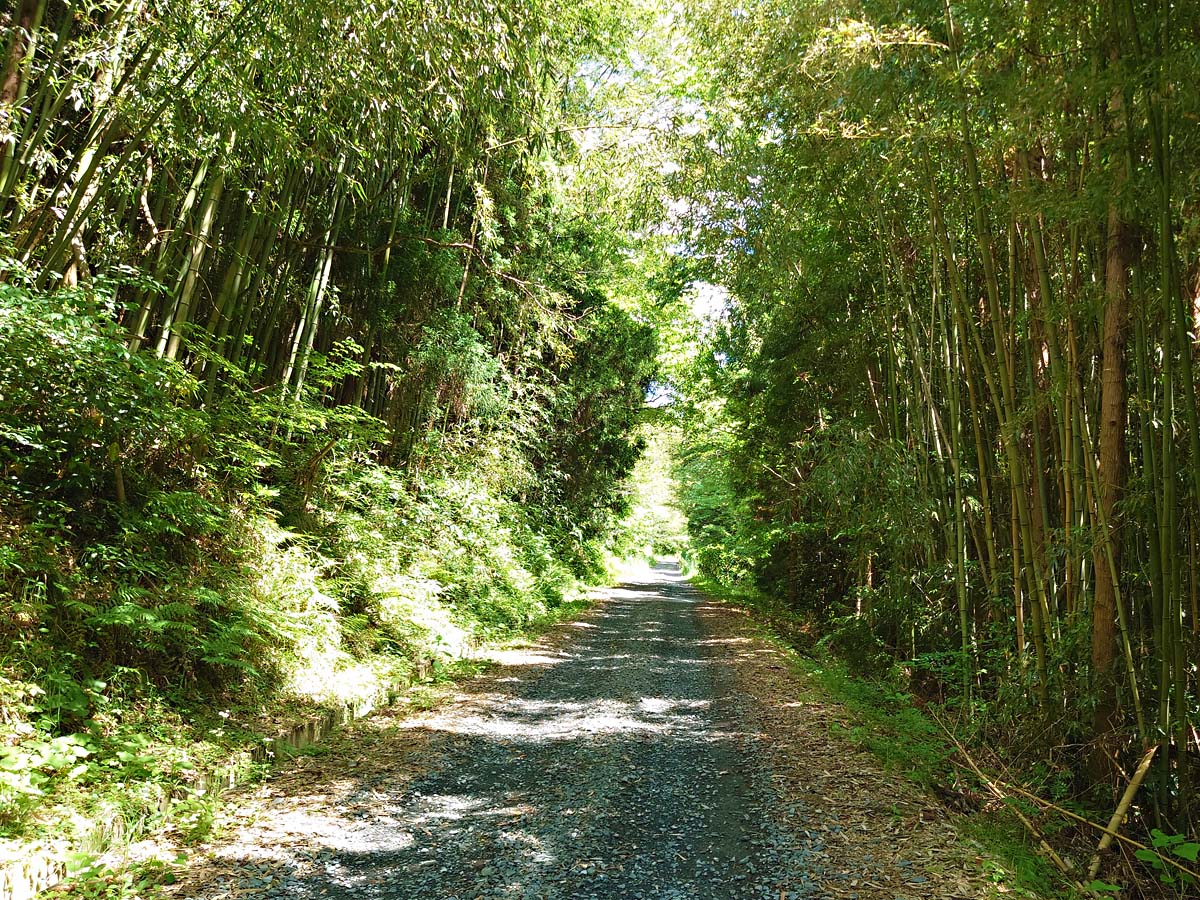
[[(913, 781), (931, 796), (944, 798), (959, 776), (952, 764), (954, 748), (941, 727), (911, 695), (880, 680), (852, 674), (828, 648), (820, 646), (810, 623), (784, 604), (754, 590), (730, 588), (701, 576), (694, 584), (707, 596), (745, 608), (758, 636), (780, 649), (822, 700), (850, 713), (851, 725), (830, 726), (847, 740), (869, 750), (884, 768)], [(966, 862), (982, 868), (994, 898), (1057, 900), (1078, 896), (1037, 852), (1028, 834), (1002, 804), (985, 804), (971, 812), (949, 811), (962, 838)]]

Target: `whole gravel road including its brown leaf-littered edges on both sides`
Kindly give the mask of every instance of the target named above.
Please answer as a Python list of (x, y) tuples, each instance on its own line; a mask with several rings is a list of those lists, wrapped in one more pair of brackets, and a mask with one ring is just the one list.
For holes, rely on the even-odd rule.
[[(660, 566), (238, 806), (179, 896), (977, 898), (953, 830)], [(931, 821), (926, 821), (931, 820)]]

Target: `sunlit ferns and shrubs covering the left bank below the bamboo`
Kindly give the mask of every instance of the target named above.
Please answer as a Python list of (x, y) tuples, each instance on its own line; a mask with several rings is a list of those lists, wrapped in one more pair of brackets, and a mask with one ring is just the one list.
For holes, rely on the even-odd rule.
[(194, 372), (128, 349), (118, 287), (0, 284), (0, 865), (203, 840), (202, 774), (577, 610), (620, 509), (595, 486), (563, 527), (528, 500), (557, 458), (485, 420), (395, 461), (323, 401), (352, 344), (299, 395), (232, 373), (197, 406)]

